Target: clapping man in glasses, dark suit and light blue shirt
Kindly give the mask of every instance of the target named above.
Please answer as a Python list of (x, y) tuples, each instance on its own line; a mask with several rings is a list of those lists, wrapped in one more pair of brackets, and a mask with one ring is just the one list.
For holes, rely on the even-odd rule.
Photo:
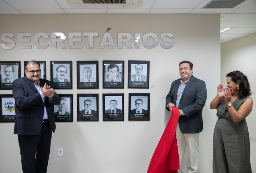
[(16, 103), (14, 134), (18, 135), (23, 173), (46, 173), (52, 132), (55, 132), (54, 104), (59, 95), (48, 80), (40, 79), (40, 64), (29, 61), (24, 78), (13, 82)]

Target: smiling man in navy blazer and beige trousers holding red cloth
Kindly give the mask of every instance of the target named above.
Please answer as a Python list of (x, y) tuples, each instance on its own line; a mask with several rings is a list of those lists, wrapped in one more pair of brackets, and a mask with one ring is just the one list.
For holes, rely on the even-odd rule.
[[(180, 112), (176, 129), (180, 170), (183, 157), (189, 157), (190, 164), (187, 163), (189, 172), (197, 172), (199, 169), (199, 133), (203, 129), (202, 110), (205, 106), (207, 92), (205, 82), (195, 78), (192, 73), (191, 62), (179, 63), (181, 79), (171, 84), (166, 96), (166, 109), (169, 111), (176, 106)], [(189, 148), (189, 156), (183, 156), (185, 145)]]

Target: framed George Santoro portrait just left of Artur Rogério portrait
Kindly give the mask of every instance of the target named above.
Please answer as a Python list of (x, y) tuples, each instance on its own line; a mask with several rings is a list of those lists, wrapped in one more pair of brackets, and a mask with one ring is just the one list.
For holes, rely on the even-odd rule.
[(99, 94), (77, 94), (77, 121), (99, 121)]

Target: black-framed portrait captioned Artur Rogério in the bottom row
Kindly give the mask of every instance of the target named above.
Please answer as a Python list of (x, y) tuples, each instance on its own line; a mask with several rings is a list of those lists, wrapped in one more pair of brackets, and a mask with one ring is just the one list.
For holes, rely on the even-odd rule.
[(103, 121), (124, 121), (124, 94), (102, 94)]

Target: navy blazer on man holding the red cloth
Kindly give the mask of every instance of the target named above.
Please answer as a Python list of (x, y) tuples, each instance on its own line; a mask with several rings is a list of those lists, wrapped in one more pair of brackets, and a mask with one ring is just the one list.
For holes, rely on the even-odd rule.
[[(169, 93), (166, 96), (167, 105), (173, 103), (176, 106), (178, 88), (181, 79), (173, 81)], [(185, 116), (179, 117), (179, 129), (182, 133), (199, 133), (203, 129), (202, 111), (205, 106), (207, 91), (205, 82), (193, 75), (187, 82), (179, 102), (179, 109)]]

